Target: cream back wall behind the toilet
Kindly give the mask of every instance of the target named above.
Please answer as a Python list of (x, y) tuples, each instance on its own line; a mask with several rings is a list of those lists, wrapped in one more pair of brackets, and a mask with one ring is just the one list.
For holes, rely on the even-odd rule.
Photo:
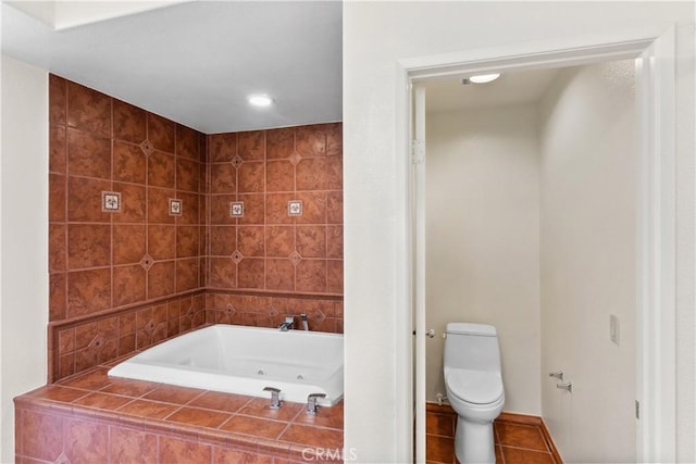
[(536, 106), (427, 115), (427, 401), (446, 394), (445, 327), (498, 330), (504, 410), (542, 414)]

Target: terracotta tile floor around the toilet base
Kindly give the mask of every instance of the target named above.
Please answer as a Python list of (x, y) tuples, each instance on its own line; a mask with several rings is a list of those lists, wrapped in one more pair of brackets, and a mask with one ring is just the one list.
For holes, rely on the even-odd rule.
[[(451, 411), (451, 410), (450, 410)], [(457, 415), (447, 407), (430, 407), (426, 414), (428, 464), (457, 464), (455, 426)], [(540, 427), (507, 421), (494, 423), (497, 464), (562, 464), (554, 460)]]

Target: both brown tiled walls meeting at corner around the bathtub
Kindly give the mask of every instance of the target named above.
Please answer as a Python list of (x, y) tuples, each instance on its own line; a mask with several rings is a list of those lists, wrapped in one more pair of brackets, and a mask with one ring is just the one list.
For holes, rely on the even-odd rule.
[(49, 125), (49, 383), (206, 323), (343, 331), (340, 123), (206, 136), (51, 75)]

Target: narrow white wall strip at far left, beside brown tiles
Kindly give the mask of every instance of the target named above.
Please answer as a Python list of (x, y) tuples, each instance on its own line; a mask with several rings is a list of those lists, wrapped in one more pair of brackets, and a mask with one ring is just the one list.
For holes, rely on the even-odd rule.
[(14, 461), (12, 399), (46, 384), (48, 74), (2, 55), (0, 462)]

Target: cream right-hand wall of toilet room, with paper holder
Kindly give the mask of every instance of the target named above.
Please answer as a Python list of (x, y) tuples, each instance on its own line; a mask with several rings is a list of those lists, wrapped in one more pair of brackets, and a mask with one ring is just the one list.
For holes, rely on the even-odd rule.
[[(544, 417), (567, 462), (635, 462), (633, 60), (562, 70), (540, 103)], [(620, 344), (609, 315), (620, 319)]]

